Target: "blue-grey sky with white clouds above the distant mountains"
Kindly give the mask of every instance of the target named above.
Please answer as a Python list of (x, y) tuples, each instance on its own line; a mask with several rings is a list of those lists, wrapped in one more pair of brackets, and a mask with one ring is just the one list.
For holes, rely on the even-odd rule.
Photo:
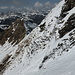
[(60, 0), (0, 0), (0, 12), (15, 10), (16, 8), (34, 7), (34, 8), (51, 8), (52, 5)]

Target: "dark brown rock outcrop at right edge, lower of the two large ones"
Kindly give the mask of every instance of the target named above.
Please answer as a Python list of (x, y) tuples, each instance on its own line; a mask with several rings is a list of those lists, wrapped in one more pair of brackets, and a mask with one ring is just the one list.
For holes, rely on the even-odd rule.
[(59, 30), (60, 38), (74, 28), (75, 28), (75, 14), (72, 14), (65, 23), (65, 27)]

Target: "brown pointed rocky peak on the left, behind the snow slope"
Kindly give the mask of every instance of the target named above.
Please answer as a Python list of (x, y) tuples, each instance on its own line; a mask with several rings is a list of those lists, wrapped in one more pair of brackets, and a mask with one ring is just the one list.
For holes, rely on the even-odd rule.
[(7, 40), (11, 44), (19, 43), (25, 37), (26, 29), (23, 20), (17, 19), (13, 24), (0, 34), (0, 44), (3, 45)]

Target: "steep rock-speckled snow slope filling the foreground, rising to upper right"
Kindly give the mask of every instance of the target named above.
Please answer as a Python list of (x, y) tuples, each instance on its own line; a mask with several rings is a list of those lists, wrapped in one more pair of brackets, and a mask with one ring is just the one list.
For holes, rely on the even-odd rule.
[[(60, 14), (62, 0), (47, 17), (11, 51), (3, 75), (74, 75), (75, 29), (60, 38), (59, 30), (65, 27), (75, 7)], [(11, 49), (10, 49), (11, 50)], [(4, 50), (5, 51), (5, 50)], [(2, 52), (3, 54), (4, 52)], [(1, 59), (2, 60), (2, 59)]]

